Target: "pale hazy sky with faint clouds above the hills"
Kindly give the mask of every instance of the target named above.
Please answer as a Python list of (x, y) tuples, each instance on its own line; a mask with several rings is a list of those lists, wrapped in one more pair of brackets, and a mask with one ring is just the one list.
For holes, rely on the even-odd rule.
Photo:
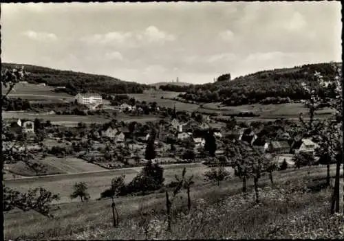
[(341, 61), (341, 3), (1, 3), (1, 58), (142, 83)]

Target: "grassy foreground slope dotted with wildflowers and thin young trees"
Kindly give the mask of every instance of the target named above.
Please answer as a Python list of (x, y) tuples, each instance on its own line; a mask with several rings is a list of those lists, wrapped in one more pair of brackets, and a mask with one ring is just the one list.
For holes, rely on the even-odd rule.
[[(186, 172), (186, 176), (189, 176), (190, 172), (191, 170)], [(292, 183), (300, 183), (301, 187), (303, 187), (303, 180), (312, 181), (313, 179), (323, 178), (325, 173), (325, 166), (274, 172), (274, 190), (264, 187), (270, 185), (270, 181), (268, 176), (263, 176), (259, 181), (259, 187), (263, 188), (263, 190), (260, 190), (260, 205), (253, 203), (252, 180), (247, 183), (248, 195), (246, 198), (240, 194), (241, 181), (237, 178), (222, 182), (220, 187), (199, 182), (191, 189), (193, 208), (191, 216), (174, 216), (171, 233), (165, 233), (167, 236), (162, 236), (161, 233), (156, 233), (158, 236), (154, 236), (154, 233), (149, 233), (151, 235), (149, 239), (286, 238), (286, 236), (292, 238), (292, 232), (297, 231), (297, 229), (302, 230), (303, 227), (306, 227), (306, 229), (300, 233), (301, 236), (299, 237), (310, 238), (309, 236), (312, 234), (308, 225), (312, 225), (313, 222), (314, 225), (318, 224), (315, 227), (316, 230), (320, 227), (327, 229), (327, 226), (319, 226), (319, 221), (323, 220), (321, 217), (330, 218), (328, 217), (330, 192), (288, 194), (286, 189), (290, 188), (291, 190), (289, 186)], [(334, 167), (332, 166), (333, 174)], [(286, 183), (286, 181), (291, 184)], [(173, 210), (178, 209), (180, 211), (181, 207), (186, 206), (185, 194), (180, 194), (180, 196), (181, 198), (178, 198), (176, 203), (173, 204)], [(286, 202), (286, 198), (288, 202)], [(164, 193), (117, 198), (116, 207), (120, 215), (120, 227), (116, 229), (111, 227), (111, 200), (90, 200), (87, 203), (61, 204), (59, 205), (61, 209), (54, 211), (55, 218), (52, 220), (36, 214), (34, 211), (22, 215), (22, 211), (13, 210), (4, 214), (4, 235), (6, 239), (17, 237), (45, 240), (52, 238), (65, 240), (92, 238), (107, 240), (144, 239), (142, 229), (137, 226), (142, 211), (151, 213), (153, 209), (153, 216), (147, 216), (147, 218), (152, 219), (152, 221), (154, 219), (159, 222), (157, 225), (164, 226), (160, 222), (164, 220), (164, 203)], [(179, 222), (174, 221), (177, 218)], [(297, 219), (294, 222), (292, 221), (294, 218), (303, 218), (303, 221), (299, 222), (299, 219)], [(281, 222), (283, 222), (283, 225), (281, 225)], [(275, 223), (282, 229), (276, 229)], [(343, 221), (337, 225), (343, 225)], [(157, 226), (153, 225), (153, 227)], [(337, 229), (337, 227), (335, 228)], [(338, 233), (334, 233), (334, 235), (338, 235)], [(338, 238), (338, 236), (335, 237)]]

